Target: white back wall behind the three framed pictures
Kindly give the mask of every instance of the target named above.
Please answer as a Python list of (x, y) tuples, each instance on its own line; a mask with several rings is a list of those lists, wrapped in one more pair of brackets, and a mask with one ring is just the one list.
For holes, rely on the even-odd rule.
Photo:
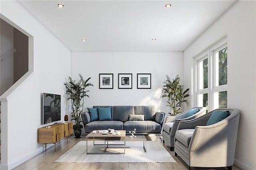
[[(85, 106), (154, 105), (156, 110), (170, 112), (161, 87), (166, 74), (183, 77), (183, 52), (72, 52), (72, 78), (78, 73), (90, 80), (90, 98)], [(114, 73), (114, 89), (99, 89), (99, 73)], [(132, 89), (118, 89), (118, 73), (132, 73)], [(137, 73), (151, 73), (151, 89), (137, 89)]]

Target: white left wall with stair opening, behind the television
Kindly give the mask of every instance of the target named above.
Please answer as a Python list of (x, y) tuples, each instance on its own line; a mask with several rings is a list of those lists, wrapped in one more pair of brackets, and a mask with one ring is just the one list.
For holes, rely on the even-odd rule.
[(7, 143), (4, 140), (1, 145), (0, 168), (4, 170), (12, 169), (43, 151), (44, 145), (37, 143), (37, 129), (42, 126), (41, 93), (62, 95), (61, 118), (64, 119), (63, 83), (70, 76), (71, 53), (18, 2), (1, 1), (1, 14), (34, 37), (34, 72), (7, 97), (8, 115), (1, 113), (2, 122), (5, 122), (2, 133), (7, 134)]

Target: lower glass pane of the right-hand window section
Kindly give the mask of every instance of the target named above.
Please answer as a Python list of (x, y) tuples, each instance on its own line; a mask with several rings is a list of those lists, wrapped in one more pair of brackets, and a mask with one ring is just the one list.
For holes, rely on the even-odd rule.
[(228, 107), (228, 91), (214, 93), (214, 109)]

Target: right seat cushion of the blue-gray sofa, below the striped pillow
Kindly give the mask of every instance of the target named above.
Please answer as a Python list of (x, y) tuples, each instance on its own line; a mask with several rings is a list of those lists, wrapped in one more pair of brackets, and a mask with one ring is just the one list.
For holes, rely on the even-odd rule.
[(126, 133), (134, 130), (136, 133), (160, 133), (161, 125), (155, 121), (126, 121), (124, 122), (124, 130)]

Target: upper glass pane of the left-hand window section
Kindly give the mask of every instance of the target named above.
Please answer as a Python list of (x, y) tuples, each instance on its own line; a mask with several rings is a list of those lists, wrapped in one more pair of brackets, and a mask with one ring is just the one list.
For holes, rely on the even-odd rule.
[(208, 88), (208, 58), (199, 63), (199, 88)]

